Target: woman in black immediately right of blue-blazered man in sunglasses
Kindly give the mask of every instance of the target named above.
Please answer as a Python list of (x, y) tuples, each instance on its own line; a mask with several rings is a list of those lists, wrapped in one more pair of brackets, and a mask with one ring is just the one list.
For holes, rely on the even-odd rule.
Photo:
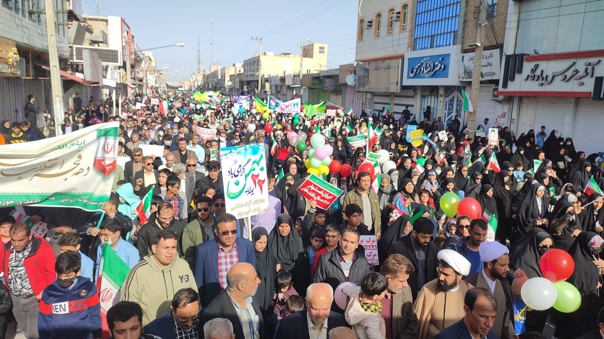
[(265, 227), (256, 227), (252, 230), (252, 239), (256, 255), (256, 273), (260, 279), (258, 290), (252, 299), (260, 306), (263, 315), (268, 316), (273, 310), (272, 298), (275, 294), (277, 261), (272, 246), (268, 246), (268, 232)]

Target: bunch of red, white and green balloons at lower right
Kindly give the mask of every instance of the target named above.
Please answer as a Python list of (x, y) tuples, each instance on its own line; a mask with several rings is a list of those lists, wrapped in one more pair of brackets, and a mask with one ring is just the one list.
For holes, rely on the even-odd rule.
[(573, 274), (573, 258), (561, 249), (548, 250), (541, 256), (539, 268), (545, 277), (528, 279), (520, 291), (528, 307), (542, 311), (553, 306), (564, 313), (579, 309), (581, 294), (565, 281)]

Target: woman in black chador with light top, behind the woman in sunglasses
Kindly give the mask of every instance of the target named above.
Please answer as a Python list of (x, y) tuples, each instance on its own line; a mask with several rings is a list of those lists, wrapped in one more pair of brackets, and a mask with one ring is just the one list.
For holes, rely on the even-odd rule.
[(547, 225), (547, 220), (544, 219), (547, 214), (547, 204), (543, 195), (545, 194), (545, 186), (540, 183), (535, 183), (522, 199), (518, 215), (516, 215), (516, 226), (512, 232), (512, 239), (516, 241), (528, 231), (541, 225)]

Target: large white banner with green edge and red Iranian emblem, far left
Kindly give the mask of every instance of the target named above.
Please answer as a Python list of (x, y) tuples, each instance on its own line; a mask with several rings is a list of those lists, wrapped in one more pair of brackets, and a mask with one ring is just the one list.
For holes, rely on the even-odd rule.
[(0, 146), (0, 207), (39, 204), (100, 211), (117, 163), (118, 125)]

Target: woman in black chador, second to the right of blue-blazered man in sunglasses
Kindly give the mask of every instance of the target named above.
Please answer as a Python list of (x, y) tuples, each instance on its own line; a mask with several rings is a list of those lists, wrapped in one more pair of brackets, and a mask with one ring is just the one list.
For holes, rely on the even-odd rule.
[(280, 270), (291, 271), (298, 254), (303, 251), (302, 239), (294, 229), (294, 221), (289, 214), (281, 213), (269, 234), (272, 253)]

